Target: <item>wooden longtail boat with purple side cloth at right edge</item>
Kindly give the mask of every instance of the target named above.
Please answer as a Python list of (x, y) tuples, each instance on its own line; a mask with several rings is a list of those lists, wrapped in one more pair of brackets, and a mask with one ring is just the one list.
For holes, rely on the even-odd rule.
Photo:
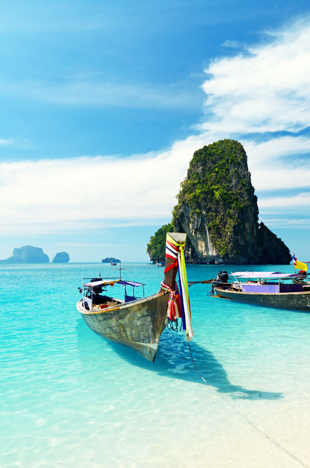
[[(249, 302), (261, 306), (284, 307), (288, 309), (300, 309), (310, 312), (310, 283), (305, 283), (304, 276), (297, 274), (284, 274), (280, 272), (236, 272), (232, 277), (239, 278), (238, 282), (214, 283), (216, 295), (224, 299)], [(246, 283), (240, 282), (240, 278), (246, 278)], [(255, 278), (255, 282), (247, 279)], [(268, 283), (269, 280), (277, 280), (277, 283)], [(284, 280), (290, 280), (291, 284), (285, 284)], [(280, 283), (282, 281), (282, 283)]]

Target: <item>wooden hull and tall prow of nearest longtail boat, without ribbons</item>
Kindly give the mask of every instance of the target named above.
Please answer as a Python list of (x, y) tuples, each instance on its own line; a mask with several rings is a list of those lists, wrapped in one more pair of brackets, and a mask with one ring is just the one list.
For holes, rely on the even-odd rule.
[[(168, 235), (177, 244), (185, 246), (186, 234), (168, 233)], [(166, 258), (165, 271), (174, 263), (176, 263), (174, 258)], [(172, 289), (175, 284), (177, 269), (178, 267), (174, 266), (163, 275), (163, 283)], [(100, 280), (102, 283), (103, 279), (94, 279), (97, 279), (97, 281), (91, 284), (95, 285), (95, 290), (97, 288), (100, 292), (100, 289), (102, 290), (102, 287), (105, 287), (104, 284), (100, 284)], [(116, 280), (114, 281), (116, 282)], [(110, 283), (112, 282), (110, 280)], [(105, 281), (106, 285), (108, 283), (109, 279)], [(136, 285), (141, 285), (141, 283), (136, 283)], [(89, 299), (90, 294), (85, 297), (85, 286), (92, 291), (91, 300)], [(81, 291), (81, 288), (79, 289)], [(138, 300), (133, 295), (132, 298), (129, 297), (129, 299), (133, 299), (129, 302), (126, 301), (126, 295), (125, 302), (122, 302), (111, 297), (94, 294), (94, 286), (83, 284), (82, 292), (83, 299), (77, 303), (76, 308), (90, 329), (107, 340), (124, 344), (139, 352), (144, 358), (154, 361), (162, 330), (168, 324), (167, 309), (170, 299), (168, 291), (164, 291), (161, 287), (156, 294)], [(104, 301), (105, 304), (100, 301)], [(104, 306), (104, 308), (98, 309), (98, 305), (99, 307)], [(89, 310), (87, 310), (87, 307)]]

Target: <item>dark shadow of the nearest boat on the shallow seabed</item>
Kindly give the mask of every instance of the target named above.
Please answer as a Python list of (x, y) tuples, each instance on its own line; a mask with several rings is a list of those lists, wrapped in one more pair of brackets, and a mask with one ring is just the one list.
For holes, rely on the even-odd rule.
[[(172, 377), (207, 385), (196, 372), (185, 341), (185, 336), (165, 330), (162, 333), (154, 363), (142, 358), (135, 351), (120, 344), (110, 343), (118, 356), (133, 366), (156, 372), (159, 375)], [(199, 373), (218, 393), (225, 393), (233, 399), (241, 400), (275, 400), (283, 398), (281, 393), (248, 390), (233, 385), (221, 363), (212, 352), (191, 341), (192, 357)]]

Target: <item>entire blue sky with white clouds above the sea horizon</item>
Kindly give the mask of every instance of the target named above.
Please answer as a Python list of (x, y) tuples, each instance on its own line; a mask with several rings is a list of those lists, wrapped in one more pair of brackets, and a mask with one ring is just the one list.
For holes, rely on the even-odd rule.
[(260, 219), (309, 256), (309, 10), (2, 1), (0, 258), (147, 261), (193, 151), (221, 138), (244, 144)]

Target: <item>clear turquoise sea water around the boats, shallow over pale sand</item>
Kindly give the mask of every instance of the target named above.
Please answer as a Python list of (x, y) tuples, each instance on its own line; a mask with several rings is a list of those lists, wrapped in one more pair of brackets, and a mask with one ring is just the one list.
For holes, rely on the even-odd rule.
[[(146, 295), (157, 292), (163, 268), (122, 266)], [(188, 265), (188, 280), (221, 268)], [(270, 268), (292, 271), (260, 267)], [(81, 278), (113, 276), (111, 265), (0, 271), (0, 467), (310, 466), (310, 314), (193, 285), (191, 348), (210, 387), (184, 332), (164, 330), (150, 363), (86, 326), (76, 310)], [(123, 291), (115, 285), (113, 295)]]

